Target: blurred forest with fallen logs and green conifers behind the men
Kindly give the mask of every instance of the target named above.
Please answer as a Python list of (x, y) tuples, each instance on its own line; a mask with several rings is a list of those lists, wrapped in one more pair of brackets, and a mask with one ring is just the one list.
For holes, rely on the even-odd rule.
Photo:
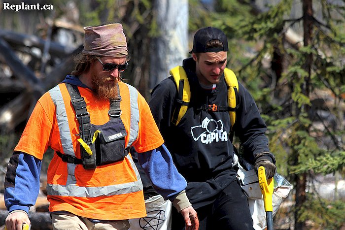
[(3, 2), (2, 176), (35, 102), (72, 70), (83, 26), (123, 24), (132, 56), (123, 77), (147, 100), (188, 57), (194, 33), (213, 26), (227, 34), (227, 66), (256, 100), (277, 172), (294, 186), (275, 224), (345, 228), (344, 0), (11, 0), (54, 7), (18, 12), (3, 10)]

